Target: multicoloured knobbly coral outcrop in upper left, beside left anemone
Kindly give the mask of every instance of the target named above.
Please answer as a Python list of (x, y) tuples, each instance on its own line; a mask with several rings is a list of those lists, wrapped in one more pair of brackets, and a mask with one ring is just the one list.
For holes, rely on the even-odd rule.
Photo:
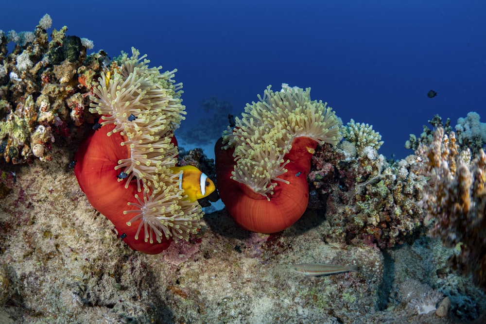
[(51, 160), (56, 139), (72, 142), (77, 126), (93, 122), (85, 107), (106, 55), (87, 56), (90, 47), (66, 26), (49, 41), (51, 25), (45, 15), (35, 32), (0, 33), (0, 154), (13, 164)]

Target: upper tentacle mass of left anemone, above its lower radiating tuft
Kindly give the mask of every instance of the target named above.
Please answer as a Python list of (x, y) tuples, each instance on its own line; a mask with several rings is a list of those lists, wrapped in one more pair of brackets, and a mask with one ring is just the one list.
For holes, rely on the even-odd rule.
[(102, 73), (89, 111), (102, 115), (101, 125), (115, 125), (108, 136), (121, 132), (126, 137), (121, 145), (130, 153), (117, 170), (128, 175), (126, 186), (135, 177), (141, 191), (141, 182), (157, 187), (159, 174), (175, 165), (172, 131), (186, 112), (180, 99), (182, 85), (172, 80), (176, 70), (160, 74), (160, 67), (148, 68), (145, 55), (139, 57), (135, 49), (132, 53), (130, 58), (122, 54), (120, 70), (111, 78)]

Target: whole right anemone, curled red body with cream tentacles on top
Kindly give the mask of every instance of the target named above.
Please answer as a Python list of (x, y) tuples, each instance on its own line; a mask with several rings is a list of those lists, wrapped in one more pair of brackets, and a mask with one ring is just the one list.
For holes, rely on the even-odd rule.
[(310, 88), (270, 86), (215, 147), (222, 201), (243, 228), (275, 233), (296, 222), (309, 200), (307, 174), (318, 143), (336, 145), (340, 120)]

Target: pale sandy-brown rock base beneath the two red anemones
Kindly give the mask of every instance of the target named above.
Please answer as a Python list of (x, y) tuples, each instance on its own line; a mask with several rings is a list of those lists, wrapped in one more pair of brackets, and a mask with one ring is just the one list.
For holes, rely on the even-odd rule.
[[(445, 324), (459, 310), (476, 305), (484, 311), (486, 299), (466, 281), (438, 289), (429, 280), (437, 273), (429, 264), (437, 250), (394, 249), (390, 266), (376, 248), (326, 242), (330, 224), (312, 210), (274, 235), (244, 231), (220, 211), (205, 215), (189, 243), (173, 243), (158, 255), (133, 251), (65, 171), (72, 148), (54, 145), (60, 154), (49, 165), (19, 167), (15, 184), (0, 178), (12, 189), (0, 205), (0, 262), (9, 280), (2, 323), (83, 323), (104, 314), (126, 323), (301, 323), (305, 317), (313, 323)], [(308, 278), (288, 268), (306, 262), (357, 264), (360, 271)], [(452, 292), (444, 318), (417, 315), (387, 295), (380, 308), (387, 276), (397, 285), (399, 278), (424, 278), (448, 296), (462, 291), (470, 307), (458, 308)]]

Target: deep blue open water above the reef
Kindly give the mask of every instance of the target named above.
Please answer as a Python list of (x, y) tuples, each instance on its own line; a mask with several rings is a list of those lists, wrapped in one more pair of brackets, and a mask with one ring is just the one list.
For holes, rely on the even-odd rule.
[(34, 31), (48, 13), (53, 28), (91, 39), (92, 51), (113, 57), (133, 46), (153, 65), (177, 68), (183, 127), (198, 122), (204, 98), (228, 100), (236, 113), (281, 83), (312, 87), (312, 99), (345, 123), (372, 124), (387, 156), (412, 153), (408, 135), (436, 113), (452, 125), (469, 111), (486, 121), (484, 0), (79, 3), (2, 3), (0, 29)]

